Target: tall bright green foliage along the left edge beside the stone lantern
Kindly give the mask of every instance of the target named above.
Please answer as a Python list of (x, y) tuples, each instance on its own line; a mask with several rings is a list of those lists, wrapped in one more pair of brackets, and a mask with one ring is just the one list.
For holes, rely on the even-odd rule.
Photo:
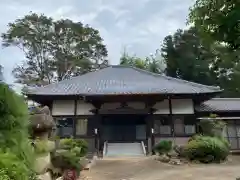
[(16, 173), (10, 173), (11, 179), (13, 176), (29, 179), (34, 153), (28, 140), (27, 105), (5, 84), (0, 84), (0, 137), (1, 173), (11, 171)]

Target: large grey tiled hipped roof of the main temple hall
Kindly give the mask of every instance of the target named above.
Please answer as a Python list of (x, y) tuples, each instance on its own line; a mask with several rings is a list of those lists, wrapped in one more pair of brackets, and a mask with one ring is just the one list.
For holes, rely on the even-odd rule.
[(199, 94), (221, 91), (138, 68), (110, 66), (34, 89), (32, 95)]

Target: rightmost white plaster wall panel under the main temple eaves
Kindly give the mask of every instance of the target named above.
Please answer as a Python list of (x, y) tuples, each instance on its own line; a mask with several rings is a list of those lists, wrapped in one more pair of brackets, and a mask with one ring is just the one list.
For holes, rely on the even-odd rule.
[(192, 99), (171, 99), (173, 114), (194, 114)]

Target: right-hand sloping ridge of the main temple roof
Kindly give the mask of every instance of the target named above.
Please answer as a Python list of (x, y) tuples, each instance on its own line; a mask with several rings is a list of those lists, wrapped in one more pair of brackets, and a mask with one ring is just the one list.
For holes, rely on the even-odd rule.
[(152, 75), (152, 76), (161, 76), (161, 77), (163, 77), (165, 79), (174, 80), (174, 81), (177, 81), (179, 83), (182, 82), (182, 83), (191, 84), (192, 86), (195, 86), (195, 87), (207, 87), (207, 88), (211, 88), (213, 90), (221, 91), (219, 86), (209, 86), (209, 85), (204, 85), (204, 84), (200, 84), (200, 83), (195, 83), (195, 82), (191, 82), (191, 81), (187, 81), (187, 80), (183, 80), (183, 79), (178, 79), (178, 78), (174, 78), (174, 77), (170, 77), (170, 76), (166, 76), (166, 75), (162, 75), (162, 74), (153, 73), (153, 72), (150, 72), (150, 71), (147, 71), (147, 70), (144, 70), (144, 69), (140, 69), (140, 68), (137, 68), (137, 67), (133, 67), (133, 66), (114, 65), (112, 67), (132, 68), (132, 69), (134, 69), (136, 71), (140, 71), (140, 72)]

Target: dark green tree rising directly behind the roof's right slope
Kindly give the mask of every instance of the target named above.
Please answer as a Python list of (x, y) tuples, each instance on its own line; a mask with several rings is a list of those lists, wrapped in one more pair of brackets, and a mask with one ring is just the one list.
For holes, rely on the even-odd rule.
[(212, 84), (210, 63), (213, 54), (201, 44), (195, 28), (177, 30), (162, 45), (166, 75), (188, 81)]

